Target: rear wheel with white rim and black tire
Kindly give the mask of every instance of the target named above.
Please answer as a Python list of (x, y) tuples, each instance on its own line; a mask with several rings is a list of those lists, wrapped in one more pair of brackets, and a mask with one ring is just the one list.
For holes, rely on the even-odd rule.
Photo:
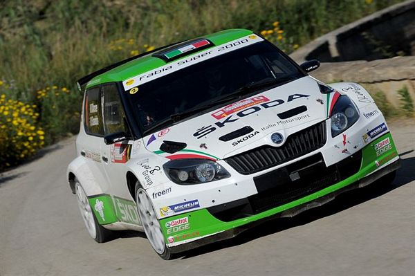
[(84, 188), (82, 188), (82, 185), (77, 178), (75, 178), (75, 194), (82, 219), (84, 220), (86, 230), (88, 230), (91, 238), (95, 239), (98, 243), (114, 239), (116, 234), (111, 230), (103, 228), (100, 226), (100, 223), (98, 223), (98, 220), (91, 209), (91, 205), (89, 205), (88, 196), (86, 196)]

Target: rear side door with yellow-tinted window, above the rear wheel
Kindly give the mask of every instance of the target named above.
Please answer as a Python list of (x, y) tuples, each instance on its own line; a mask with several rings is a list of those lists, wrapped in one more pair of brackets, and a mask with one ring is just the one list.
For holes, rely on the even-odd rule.
[[(103, 167), (101, 142), (104, 140), (100, 86), (88, 89), (84, 98), (83, 127), (77, 138), (77, 150), (85, 158), (88, 168), (102, 193), (107, 193), (109, 185)], [(89, 194), (90, 196), (91, 194)]]

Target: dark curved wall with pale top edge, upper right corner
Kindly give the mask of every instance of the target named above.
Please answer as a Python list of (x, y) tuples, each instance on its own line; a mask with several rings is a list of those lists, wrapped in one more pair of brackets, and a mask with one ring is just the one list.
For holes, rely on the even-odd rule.
[(296, 50), (297, 62), (374, 60), (415, 55), (415, 0), (405, 1), (333, 30)]

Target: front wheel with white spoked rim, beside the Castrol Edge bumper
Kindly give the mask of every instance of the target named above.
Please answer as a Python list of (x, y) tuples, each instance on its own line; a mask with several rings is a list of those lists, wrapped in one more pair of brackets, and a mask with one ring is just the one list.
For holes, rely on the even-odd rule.
[(138, 184), (136, 185), (136, 202), (138, 216), (151, 247), (162, 259), (171, 259), (172, 253), (166, 246), (153, 203), (147, 192)]

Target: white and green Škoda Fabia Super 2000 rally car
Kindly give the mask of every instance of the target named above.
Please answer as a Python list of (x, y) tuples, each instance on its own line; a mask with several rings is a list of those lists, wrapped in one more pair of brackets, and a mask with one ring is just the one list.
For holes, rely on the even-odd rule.
[(68, 183), (104, 242), (144, 231), (163, 259), (394, 179), (385, 118), (359, 84), (324, 84), (250, 30), (131, 57), (78, 81)]

